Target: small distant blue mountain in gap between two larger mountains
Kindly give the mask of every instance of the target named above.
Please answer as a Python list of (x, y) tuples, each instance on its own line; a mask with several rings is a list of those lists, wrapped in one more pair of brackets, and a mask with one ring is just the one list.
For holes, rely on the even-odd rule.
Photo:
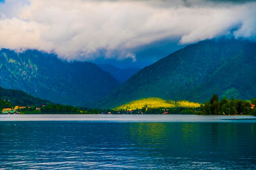
[(102, 70), (109, 72), (120, 83), (127, 81), (132, 75), (136, 74), (140, 68), (117, 68), (110, 64), (97, 64)]

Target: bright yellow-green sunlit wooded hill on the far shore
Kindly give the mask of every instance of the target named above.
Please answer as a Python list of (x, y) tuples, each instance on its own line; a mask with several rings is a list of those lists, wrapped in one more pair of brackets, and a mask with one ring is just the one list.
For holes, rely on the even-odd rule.
[(182, 101), (173, 101), (173, 100), (163, 100), (162, 98), (143, 98), (140, 100), (134, 100), (125, 105), (121, 105), (116, 107), (116, 110), (127, 109), (127, 110), (135, 110), (142, 109), (143, 107), (150, 109), (157, 108), (173, 108), (173, 107), (189, 107), (189, 108), (197, 108), (200, 107), (200, 103), (189, 102), (186, 100)]

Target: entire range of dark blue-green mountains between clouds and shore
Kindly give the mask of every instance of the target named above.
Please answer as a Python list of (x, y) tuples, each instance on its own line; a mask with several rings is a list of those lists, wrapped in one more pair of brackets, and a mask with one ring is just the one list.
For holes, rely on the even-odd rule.
[(1, 87), (64, 105), (115, 108), (151, 97), (201, 103), (213, 94), (220, 99), (255, 98), (256, 42), (204, 40), (137, 71), (62, 61), (37, 50), (0, 50)]

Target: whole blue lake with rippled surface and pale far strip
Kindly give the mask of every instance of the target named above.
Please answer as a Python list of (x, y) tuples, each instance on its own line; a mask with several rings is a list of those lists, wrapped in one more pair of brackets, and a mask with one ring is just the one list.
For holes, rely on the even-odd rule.
[(0, 169), (256, 169), (256, 119), (0, 115)]

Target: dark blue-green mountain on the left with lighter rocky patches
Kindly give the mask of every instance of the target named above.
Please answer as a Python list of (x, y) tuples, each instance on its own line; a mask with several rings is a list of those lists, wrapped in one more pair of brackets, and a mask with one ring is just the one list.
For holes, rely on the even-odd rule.
[(66, 105), (84, 106), (109, 94), (119, 82), (94, 63), (61, 61), (37, 50), (0, 50), (0, 86)]

